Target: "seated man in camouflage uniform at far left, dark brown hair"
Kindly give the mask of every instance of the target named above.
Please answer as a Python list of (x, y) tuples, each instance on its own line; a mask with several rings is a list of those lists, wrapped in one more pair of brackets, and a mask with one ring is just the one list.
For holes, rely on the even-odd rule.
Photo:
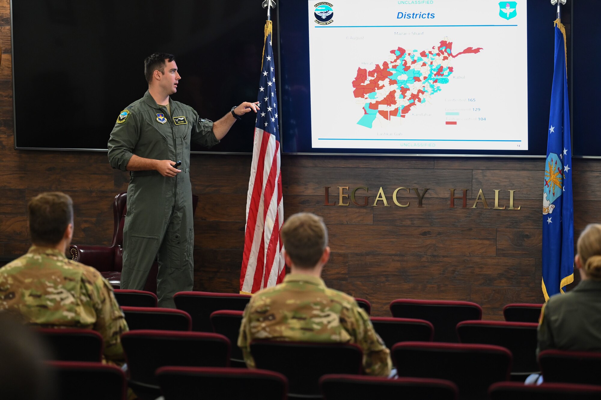
[(0, 310), (35, 326), (93, 329), (104, 339), (106, 361), (124, 362), (127, 332), (112, 287), (99, 271), (65, 257), (73, 237), (73, 201), (41, 193), (28, 204), (29, 251), (0, 268)]

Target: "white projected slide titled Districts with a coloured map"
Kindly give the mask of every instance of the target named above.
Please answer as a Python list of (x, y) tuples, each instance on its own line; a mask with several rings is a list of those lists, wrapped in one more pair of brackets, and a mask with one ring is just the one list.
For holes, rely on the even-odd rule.
[(314, 148), (528, 150), (526, 0), (308, 1)]

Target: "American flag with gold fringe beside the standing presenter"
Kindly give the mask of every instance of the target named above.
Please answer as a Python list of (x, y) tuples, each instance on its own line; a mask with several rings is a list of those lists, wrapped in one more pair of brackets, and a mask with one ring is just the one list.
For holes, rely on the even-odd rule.
[(263, 61), (257, 100), (251, 178), (246, 198), (244, 255), (240, 292), (254, 293), (284, 279), (284, 255), (279, 229), (284, 220), (279, 158), (278, 108), (275, 94), (272, 22), (265, 23)]

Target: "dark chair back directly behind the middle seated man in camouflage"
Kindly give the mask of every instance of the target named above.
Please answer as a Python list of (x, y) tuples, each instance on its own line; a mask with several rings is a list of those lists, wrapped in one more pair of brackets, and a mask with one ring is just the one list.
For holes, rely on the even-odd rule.
[(325, 374), (361, 374), (363, 352), (358, 345), (253, 341), (255, 366), (288, 378), (291, 395), (320, 396), (319, 378)]

